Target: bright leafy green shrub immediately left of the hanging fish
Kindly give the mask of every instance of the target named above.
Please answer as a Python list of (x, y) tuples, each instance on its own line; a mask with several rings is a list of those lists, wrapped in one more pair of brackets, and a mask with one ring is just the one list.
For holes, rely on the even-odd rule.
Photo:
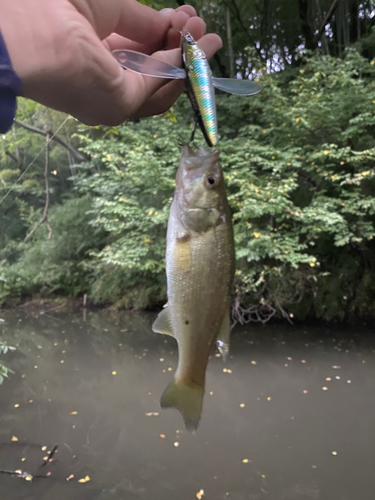
[(77, 180), (77, 187), (92, 197), (91, 226), (107, 234), (104, 248), (90, 252), (95, 300), (142, 307), (163, 299), (165, 232), (179, 156), (175, 133), (174, 122), (157, 117), (118, 127), (106, 140), (81, 137), (101, 168)]

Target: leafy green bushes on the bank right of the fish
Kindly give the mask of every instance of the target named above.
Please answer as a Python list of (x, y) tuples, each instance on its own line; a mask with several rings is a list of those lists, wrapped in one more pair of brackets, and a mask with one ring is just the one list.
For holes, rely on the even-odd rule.
[(308, 59), (287, 84), (265, 75), (253, 123), (223, 144), (238, 283), (253, 301), (374, 315), (373, 76), (354, 50)]

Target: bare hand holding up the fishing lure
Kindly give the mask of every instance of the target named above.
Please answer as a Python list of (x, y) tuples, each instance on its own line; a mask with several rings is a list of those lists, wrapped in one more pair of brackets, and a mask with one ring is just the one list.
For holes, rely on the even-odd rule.
[(183, 27), (208, 58), (221, 47), (190, 6), (157, 12), (135, 0), (0, 0), (0, 29), (23, 95), (89, 125), (169, 109), (183, 82), (124, 71), (111, 51), (137, 50), (180, 66)]

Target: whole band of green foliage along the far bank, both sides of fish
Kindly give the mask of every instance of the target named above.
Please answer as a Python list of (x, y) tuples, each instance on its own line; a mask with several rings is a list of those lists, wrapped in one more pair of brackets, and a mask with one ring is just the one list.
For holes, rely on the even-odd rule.
[[(258, 68), (257, 96), (218, 95), (236, 317), (375, 316), (374, 72), (353, 49), (342, 59), (315, 54), (283, 73)], [(42, 164), (23, 179), (36, 185), (0, 205), (0, 302), (83, 293), (127, 308), (165, 300), (166, 224), (191, 118), (182, 97), (163, 116), (119, 127), (70, 125), (90, 160), (52, 187), (52, 239), (42, 225), (23, 242), (44, 206)], [(58, 151), (53, 162), (67, 169)]]

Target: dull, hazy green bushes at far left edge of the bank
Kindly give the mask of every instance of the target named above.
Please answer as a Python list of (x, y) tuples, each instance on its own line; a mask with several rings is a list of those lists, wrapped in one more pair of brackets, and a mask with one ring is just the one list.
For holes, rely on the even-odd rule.
[(88, 198), (68, 199), (50, 211), (50, 240), (47, 228), (41, 226), (30, 242), (10, 244), (0, 251), (0, 260), (6, 261), (0, 302), (18, 302), (33, 294), (76, 296), (87, 292), (90, 276), (85, 270), (85, 258), (103, 244), (101, 231), (89, 225), (90, 207)]

